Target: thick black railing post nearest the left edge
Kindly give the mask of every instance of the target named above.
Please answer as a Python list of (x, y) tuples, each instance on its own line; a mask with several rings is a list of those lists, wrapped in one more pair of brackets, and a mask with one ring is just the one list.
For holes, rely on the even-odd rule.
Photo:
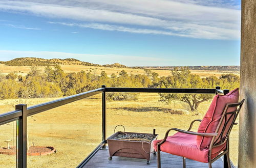
[(16, 128), (16, 167), (27, 167), (27, 104), (18, 104), (16, 110), (22, 110), (22, 117), (17, 121)]

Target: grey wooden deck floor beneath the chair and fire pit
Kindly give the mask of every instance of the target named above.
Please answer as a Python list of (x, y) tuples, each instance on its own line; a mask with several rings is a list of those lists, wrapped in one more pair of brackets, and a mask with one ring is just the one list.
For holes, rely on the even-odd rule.
[[(113, 156), (112, 160), (108, 159), (109, 151), (99, 150), (93, 158), (86, 164), (84, 167), (136, 167), (136, 168), (144, 168), (144, 167), (157, 167), (157, 156), (151, 157), (150, 164), (146, 164), (146, 159), (134, 159), (134, 158), (126, 158), (126, 157), (119, 157)], [(161, 166), (162, 167), (182, 167), (182, 157), (167, 154), (161, 152)], [(186, 159), (186, 167), (208, 167), (208, 163), (201, 163), (198, 161)], [(222, 158), (216, 160), (212, 163), (212, 167), (219, 168), (223, 167)]]

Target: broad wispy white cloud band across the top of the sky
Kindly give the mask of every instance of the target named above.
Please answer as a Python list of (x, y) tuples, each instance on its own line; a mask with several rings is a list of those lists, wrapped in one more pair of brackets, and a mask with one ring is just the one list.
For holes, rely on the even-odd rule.
[(72, 19), (76, 23), (67, 25), (106, 31), (239, 39), (241, 11), (236, 5), (223, 0), (4, 0), (0, 10)]

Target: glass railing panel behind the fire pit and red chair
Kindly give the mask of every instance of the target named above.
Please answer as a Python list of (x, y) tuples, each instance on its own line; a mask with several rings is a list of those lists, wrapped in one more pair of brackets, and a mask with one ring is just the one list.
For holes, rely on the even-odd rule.
[[(158, 93), (139, 93), (137, 100), (108, 100), (107, 137), (121, 124), (127, 132), (153, 133), (155, 128), (160, 139), (169, 128), (187, 130), (191, 121), (203, 118), (210, 104), (209, 101), (203, 102), (196, 111), (191, 111), (182, 101), (172, 100), (166, 104), (159, 99)], [(192, 131), (197, 131), (199, 124), (195, 123)], [(123, 128), (118, 127), (117, 130), (123, 131)], [(174, 133), (170, 132), (170, 135)]]

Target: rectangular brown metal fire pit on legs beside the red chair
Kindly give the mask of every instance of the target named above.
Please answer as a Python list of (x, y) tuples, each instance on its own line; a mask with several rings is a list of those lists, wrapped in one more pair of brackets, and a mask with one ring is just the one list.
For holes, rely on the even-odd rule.
[[(118, 131), (111, 135), (108, 140), (110, 157), (109, 160), (112, 160), (112, 156), (122, 156), (122, 157), (131, 157), (131, 158), (139, 158), (139, 159), (146, 159), (147, 164), (150, 164), (150, 157), (152, 154), (153, 143), (151, 142), (143, 142), (143, 141), (129, 141), (123, 139), (115, 139), (118, 134), (143, 134), (143, 135), (153, 135), (156, 139), (158, 134), (152, 133), (138, 133), (138, 132), (121, 132)], [(143, 143), (143, 148), (142, 148)]]

